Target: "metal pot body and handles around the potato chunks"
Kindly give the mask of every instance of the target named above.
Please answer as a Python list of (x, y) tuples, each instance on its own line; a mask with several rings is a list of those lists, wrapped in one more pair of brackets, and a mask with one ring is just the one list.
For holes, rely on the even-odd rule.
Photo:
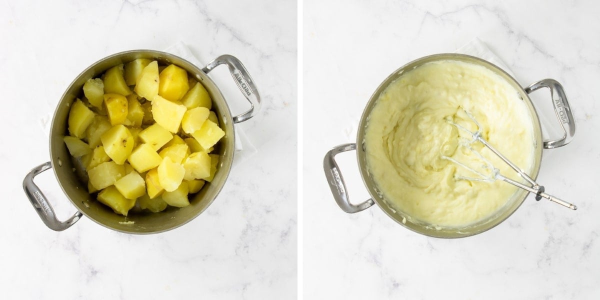
[[(175, 64), (184, 68), (196, 80), (201, 82), (212, 98), (213, 110), (217, 113), (220, 127), (224, 129), (225, 136), (215, 147), (215, 153), (220, 155), (217, 173), (212, 182), (206, 182), (205, 187), (199, 193), (190, 199), (190, 206), (185, 208), (168, 208), (166, 211), (156, 214), (130, 214), (128, 217), (115, 214), (112, 209), (104, 206), (88, 193), (87, 186), (81, 181), (74, 172), (74, 166), (71, 156), (65, 146), (62, 138), (67, 132), (67, 118), (70, 110), (70, 104), (81, 97), (83, 83), (92, 77), (97, 77), (110, 67), (119, 64), (126, 64), (137, 58), (148, 58), (157, 60), (160, 64)], [(217, 85), (208, 77), (208, 73), (218, 65), (227, 65), (235, 83), (238, 85), (244, 97), (250, 102), (250, 109), (238, 116), (232, 116), (227, 106), (227, 101), (217, 88)], [(82, 215), (95, 221), (96, 223), (125, 233), (158, 233), (174, 229), (193, 220), (201, 214), (217, 197), (221, 188), (227, 180), (232, 166), (235, 131), (233, 124), (244, 122), (256, 115), (260, 109), (260, 95), (254, 85), (254, 80), (248, 74), (248, 71), (242, 63), (231, 55), (221, 55), (209, 62), (202, 69), (191, 64), (191, 62), (170, 53), (154, 50), (131, 50), (107, 58), (100, 59), (90, 67), (86, 68), (62, 95), (59, 101), (54, 117), (52, 127), (50, 128), (50, 161), (35, 167), (28, 173), (23, 180), (23, 190), (34, 206), (35, 211), (46, 226), (52, 230), (65, 230), (78, 221)], [(56, 179), (64, 191), (67, 198), (77, 208), (76, 214), (66, 221), (59, 221), (50, 206), (50, 203), (34, 183), (34, 178), (41, 172), (52, 168)]]

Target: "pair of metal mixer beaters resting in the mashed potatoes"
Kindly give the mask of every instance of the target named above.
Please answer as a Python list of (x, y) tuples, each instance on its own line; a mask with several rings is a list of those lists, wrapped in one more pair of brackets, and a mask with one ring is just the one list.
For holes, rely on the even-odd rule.
[[(477, 122), (475, 120), (475, 118), (473, 117), (473, 115), (471, 115), (471, 113), (469, 113), (466, 109), (464, 109), (464, 108), (462, 108), (462, 109), (466, 113), (466, 115), (469, 116), (469, 118), (473, 121), (473, 123), (475, 123), (475, 125), (477, 126), (477, 131), (472, 132), (463, 126), (456, 124), (455, 122), (452, 122), (452, 121), (448, 121), (448, 122), (450, 124), (454, 125), (456, 128), (458, 128), (458, 130), (462, 130), (465, 133), (472, 136), (472, 138), (473, 138), (472, 140), (467, 140), (466, 142), (464, 140), (461, 140), (460, 146), (463, 146), (463, 147), (469, 149), (469, 151), (473, 152), (473, 154), (475, 154), (479, 159), (484, 161), (484, 163), (486, 164), (484, 166), (484, 169), (490, 170), (490, 174), (485, 175), (484, 173), (479, 172), (478, 170), (475, 170), (472, 167), (469, 167), (466, 164), (461, 163), (460, 161), (457, 161), (452, 157), (443, 155), (442, 156), (443, 159), (452, 161), (452, 163), (455, 163), (458, 166), (461, 166), (464, 169), (467, 169), (480, 177), (480, 178), (470, 178), (470, 177), (465, 177), (465, 176), (457, 176), (457, 179), (464, 179), (464, 180), (469, 180), (469, 181), (483, 181), (483, 182), (494, 182), (497, 179), (500, 179), (502, 181), (505, 181), (505, 182), (508, 182), (509, 184), (514, 185), (515, 187), (522, 188), (523, 190), (534, 193), (535, 199), (538, 201), (540, 199), (542, 199), (542, 197), (543, 197), (545, 199), (550, 200), (551, 202), (559, 203), (560, 205), (565, 206), (567, 208), (570, 208), (573, 210), (577, 209), (577, 206), (575, 206), (574, 204), (571, 204), (569, 202), (566, 202), (564, 200), (561, 200), (557, 197), (554, 197), (550, 194), (545, 193), (545, 188), (543, 185), (539, 185), (538, 182), (533, 180), (529, 175), (527, 175), (527, 173), (525, 173), (523, 170), (521, 170), (520, 167), (517, 167), (514, 163), (512, 163), (512, 161), (508, 160), (508, 158), (506, 158), (504, 155), (502, 155), (502, 153), (500, 153), (496, 148), (494, 148), (492, 145), (490, 145), (490, 143), (488, 143), (488, 141), (485, 140), (484, 137), (482, 137), (481, 125), (479, 125), (479, 122)], [(494, 167), (491, 164), (491, 162), (489, 160), (487, 160), (487, 158), (485, 158), (483, 155), (481, 155), (481, 153), (479, 153), (478, 151), (476, 151), (475, 149), (472, 148), (471, 145), (472, 145), (472, 143), (475, 143), (475, 142), (481, 142), (484, 146), (486, 146), (488, 149), (490, 149), (491, 152), (494, 152), (494, 154), (498, 155), (498, 157), (500, 157), (506, 164), (508, 164), (513, 170), (515, 170), (515, 172), (517, 172), (518, 175), (521, 176), (521, 178), (524, 178), (532, 186), (522, 184), (521, 182), (514, 181), (513, 179), (507, 178), (506, 176), (500, 174), (500, 170), (496, 169), (496, 167)]]

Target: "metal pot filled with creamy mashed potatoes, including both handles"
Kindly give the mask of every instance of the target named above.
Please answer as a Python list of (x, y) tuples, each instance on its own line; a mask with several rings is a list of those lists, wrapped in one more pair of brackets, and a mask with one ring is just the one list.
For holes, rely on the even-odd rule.
[[(541, 125), (528, 93), (550, 88), (565, 134), (542, 140)], [(490, 149), (456, 125), (476, 131), (533, 179), (543, 148), (569, 143), (574, 118), (562, 86), (545, 79), (526, 89), (496, 65), (479, 58), (439, 54), (417, 59), (392, 73), (377, 88), (362, 114), (356, 143), (337, 146), (323, 161), (334, 197), (344, 211), (374, 203), (401, 225), (428, 236), (460, 238), (484, 232), (509, 217), (529, 192), (503, 181), (482, 182), (454, 161), (478, 168), (477, 154), (502, 175), (518, 174)], [(355, 150), (372, 199), (349, 202), (335, 155)], [(449, 160), (448, 158), (452, 158)], [(521, 179), (522, 180), (522, 179)]]

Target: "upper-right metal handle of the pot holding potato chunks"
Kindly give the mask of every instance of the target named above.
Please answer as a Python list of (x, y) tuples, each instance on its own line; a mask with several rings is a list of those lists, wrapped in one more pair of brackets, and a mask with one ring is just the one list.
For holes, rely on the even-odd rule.
[(235, 58), (232, 55), (221, 55), (218, 58), (213, 59), (209, 62), (206, 67), (202, 68), (202, 71), (208, 74), (212, 69), (216, 68), (218, 65), (226, 64), (229, 67), (229, 73), (235, 80), (236, 85), (244, 97), (250, 102), (250, 109), (242, 113), (241, 115), (233, 117), (233, 123), (244, 122), (247, 119), (252, 118), (260, 109), (260, 95), (256, 89), (256, 85), (254, 84), (254, 80), (248, 74), (248, 70), (244, 67), (239, 59)]

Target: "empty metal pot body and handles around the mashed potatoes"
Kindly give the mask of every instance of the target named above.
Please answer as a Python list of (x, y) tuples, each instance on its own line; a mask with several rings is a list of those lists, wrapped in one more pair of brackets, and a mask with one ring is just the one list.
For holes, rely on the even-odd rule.
[[(421, 223), (414, 218), (410, 218), (410, 215), (407, 215), (403, 211), (397, 211), (391, 208), (388, 203), (383, 199), (381, 193), (377, 191), (376, 182), (374, 182), (373, 178), (371, 178), (370, 174), (367, 171), (367, 163), (365, 161), (365, 145), (364, 145), (364, 134), (365, 128), (367, 125), (367, 118), (373, 109), (379, 95), (385, 91), (385, 89), (389, 86), (390, 83), (394, 82), (394, 80), (401, 77), (407, 71), (413, 70), (423, 64), (427, 64), (428, 62), (434, 61), (463, 61), (469, 62), (471, 64), (481, 65), (494, 73), (498, 74), (502, 79), (506, 80), (510, 85), (513, 86), (515, 91), (518, 92), (519, 96), (525, 102), (527, 108), (529, 109), (532, 121), (533, 121), (533, 130), (535, 134), (535, 163), (533, 166), (533, 171), (530, 176), (535, 179), (539, 172), (539, 165), (542, 160), (542, 147), (543, 148), (557, 148), (560, 146), (564, 146), (567, 143), (571, 142), (574, 134), (575, 134), (575, 119), (573, 118), (571, 107), (567, 101), (565, 91), (563, 90), (560, 83), (556, 82), (553, 79), (544, 79), (538, 82), (533, 83), (527, 88), (522, 88), (517, 80), (512, 78), (508, 73), (497, 67), (496, 65), (491, 64), (488, 61), (484, 61), (483, 59), (476, 58), (469, 55), (460, 55), (454, 53), (448, 54), (437, 54), (431, 56), (425, 56), (423, 58), (416, 59), (415, 61), (409, 62), (398, 70), (394, 71), (390, 76), (388, 76), (383, 82), (379, 85), (376, 91), (371, 96), (370, 100), (367, 103), (367, 107), (365, 107), (364, 112), (362, 113), (361, 121), (358, 127), (358, 136), (356, 137), (356, 143), (348, 143), (344, 145), (336, 146), (332, 148), (323, 160), (323, 170), (325, 170), (325, 177), (329, 183), (329, 188), (331, 188), (331, 193), (334, 196), (335, 201), (338, 203), (340, 208), (348, 212), (350, 214), (364, 211), (365, 209), (373, 206), (375, 203), (379, 205), (383, 211), (389, 215), (392, 219), (398, 222), (398, 224), (407, 227), (410, 230), (421, 233), (423, 235), (434, 236), (437, 238), (461, 238), (465, 236), (476, 235), (477, 233), (484, 232), (497, 224), (502, 223), (502, 221), (506, 220), (514, 211), (519, 208), (521, 203), (527, 197), (528, 192), (525, 190), (519, 190), (518, 195), (514, 197), (512, 202), (507, 203), (507, 205), (503, 206), (496, 214), (491, 217), (481, 220), (478, 223), (472, 224), (468, 227), (464, 228), (445, 228), (445, 227), (437, 227), (431, 224)], [(544, 140), (542, 141), (542, 130), (541, 125), (539, 123), (538, 114), (533, 107), (532, 101), (529, 98), (531, 92), (536, 91), (539, 88), (549, 88), (550, 94), (552, 98), (552, 103), (554, 104), (554, 110), (556, 112), (556, 116), (559, 120), (560, 127), (562, 127), (564, 134), (560, 139), (557, 140)], [(357, 146), (358, 145), (358, 146)], [(361, 170), (362, 181), (369, 194), (371, 195), (371, 199), (368, 199), (365, 202), (359, 204), (350, 203), (346, 184), (344, 183), (344, 179), (341, 175), (340, 168), (335, 162), (335, 155), (340, 152), (356, 150), (356, 158), (358, 160), (359, 169)], [(539, 199), (538, 199), (539, 200)]]

